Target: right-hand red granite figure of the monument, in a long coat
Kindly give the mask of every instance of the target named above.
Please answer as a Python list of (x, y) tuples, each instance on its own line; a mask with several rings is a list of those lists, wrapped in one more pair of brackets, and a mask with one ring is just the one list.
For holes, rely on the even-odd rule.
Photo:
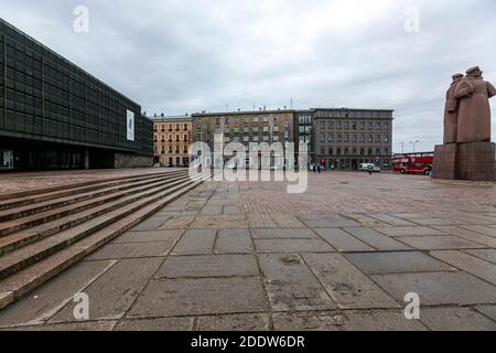
[(468, 68), (466, 76), (455, 88), (459, 106), (457, 142), (490, 141), (489, 98), (496, 96), (496, 88), (482, 76), (478, 66)]

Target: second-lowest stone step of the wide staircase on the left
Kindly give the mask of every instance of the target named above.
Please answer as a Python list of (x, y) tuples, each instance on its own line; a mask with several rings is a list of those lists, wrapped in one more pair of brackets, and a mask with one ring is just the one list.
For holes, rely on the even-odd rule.
[(15, 274), (17, 271), (20, 271), (28, 266), (44, 259), (45, 257), (79, 242), (90, 234), (105, 228), (120, 228), (120, 221), (122, 218), (137, 212), (138, 214), (140, 214), (139, 211), (141, 208), (147, 207), (150, 204), (162, 199), (165, 199), (171, 194), (174, 194), (193, 184), (194, 182), (195, 181), (192, 181), (190, 179), (186, 181), (183, 180), (181, 183), (174, 186), (170, 186), (166, 190), (155, 192), (152, 195), (140, 195), (139, 200), (122, 207), (119, 207), (101, 216), (85, 222), (78, 226), (60, 232), (55, 235), (9, 253), (0, 257), (0, 279), (4, 279)]

